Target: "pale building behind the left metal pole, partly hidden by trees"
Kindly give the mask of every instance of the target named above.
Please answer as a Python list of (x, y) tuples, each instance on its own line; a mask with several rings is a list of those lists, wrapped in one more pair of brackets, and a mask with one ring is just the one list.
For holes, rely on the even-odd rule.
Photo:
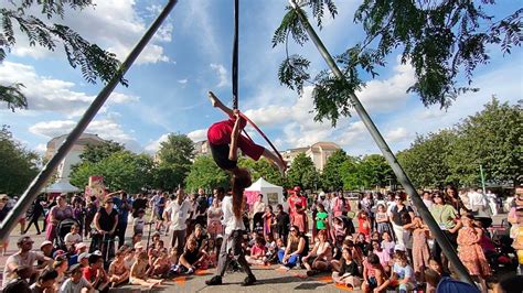
[[(45, 159), (50, 160), (58, 150), (60, 145), (64, 143), (65, 139), (67, 138), (67, 134), (57, 137), (52, 139), (50, 142), (47, 142), (47, 150), (45, 151)], [(90, 133), (84, 133), (82, 134), (78, 140), (73, 144), (73, 148), (71, 148), (71, 151), (67, 153), (67, 155), (62, 160), (60, 163), (58, 167), (56, 169), (56, 176), (57, 181), (70, 181), (70, 175), (71, 175), (71, 169), (73, 165), (78, 164), (82, 160), (79, 159), (79, 155), (84, 152), (85, 148), (87, 148), (88, 144), (90, 145), (98, 145), (104, 143), (105, 140), (100, 139), (97, 134), (90, 134)]]

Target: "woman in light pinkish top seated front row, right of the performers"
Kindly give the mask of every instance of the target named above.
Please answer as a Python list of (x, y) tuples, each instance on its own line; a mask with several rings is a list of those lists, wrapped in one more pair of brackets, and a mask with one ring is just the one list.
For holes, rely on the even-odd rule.
[(318, 239), (312, 250), (302, 259), (309, 276), (329, 270), (332, 260), (332, 247), (327, 240), (327, 230), (319, 230)]

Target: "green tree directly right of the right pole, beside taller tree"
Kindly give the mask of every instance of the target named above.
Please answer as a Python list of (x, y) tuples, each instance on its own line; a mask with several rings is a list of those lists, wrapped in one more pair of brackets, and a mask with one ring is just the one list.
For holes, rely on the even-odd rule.
[(397, 160), (415, 186), (441, 188), (451, 183), (449, 161), (457, 140), (455, 130), (418, 135)]

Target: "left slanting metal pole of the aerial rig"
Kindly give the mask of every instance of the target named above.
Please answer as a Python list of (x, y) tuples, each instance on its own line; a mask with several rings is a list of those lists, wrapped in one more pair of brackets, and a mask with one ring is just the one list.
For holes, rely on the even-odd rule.
[(47, 182), (47, 180), (53, 174), (53, 171), (58, 166), (60, 162), (64, 160), (65, 155), (67, 155), (68, 151), (73, 146), (74, 142), (82, 135), (84, 130), (89, 124), (90, 120), (96, 116), (98, 110), (102, 108), (104, 102), (109, 97), (110, 93), (115, 89), (118, 85), (120, 79), (124, 77), (126, 72), (130, 68), (132, 63), (136, 58), (140, 55), (141, 51), (146, 47), (147, 43), (152, 39), (154, 32), (160, 28), (162, 22), (167, 19), (169, 13), (171, 12), (172, 8), (177, 4), (178, 0), (169, 0), (166, 8), (162, 10), (160, 15), (154, 20), (151, 26), (147, 30), (146, 34), (141, 37), (141, 40), (135, 45), (132, 51), (129, 53), (127, 58), (121, 63), (118, 70), (115, 73), (115, 76), (110, 79), (110, 82), (102, 89), (98, 96), (93, 100), (89, 108), (85, 111), (82, 119), (79, 119), (76, 127), (71, 131), (71, 133), (65, 139), (64, 143), (60, 145), (56, 153), (51, 158), (47, 164), (40, 171), (36, 177), (31, 182), (28, 189), (23, 193), (20, 197), (20, 200), (17, 202), (14, 207), (9, 211), (6, 219), (1, 223), (0, 226), (0, 239), (7, 239), (9, 234), (14, 228), (18, 223), (20, 215), (25, 213), (29, 209), (31, 204), (34, 202), (36, 196), (39, 195), (40, 191)]

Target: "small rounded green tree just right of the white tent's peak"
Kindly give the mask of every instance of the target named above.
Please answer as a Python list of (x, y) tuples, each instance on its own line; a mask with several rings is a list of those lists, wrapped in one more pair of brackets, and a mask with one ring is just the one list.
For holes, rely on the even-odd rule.
[(305, 153), (299, 153), (287, 173), (287, 187), (301, 186), (305, 189), (317, 189), (319, 174), (312, 160)]

